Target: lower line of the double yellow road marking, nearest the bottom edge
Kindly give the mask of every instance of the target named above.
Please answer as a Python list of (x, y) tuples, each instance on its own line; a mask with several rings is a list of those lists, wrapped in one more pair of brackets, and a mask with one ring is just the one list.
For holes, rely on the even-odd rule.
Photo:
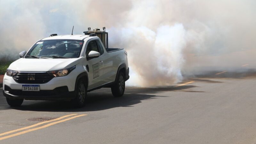
[(57, 122), (53, 122), (53, 123), (50, 123), (50, 124), (46, 124), (46, 125), (43, 125), (43, 126), (40, 126), (40, 127), (37, 127), (37, 128), (33, 128), (33, 129), (26, 130), (26, 131), (23, 131), (23, 132), (18, 132), (18, 133), (15, 133), (15, 134), (11, 134), (11, 135), (0, 138), (0, 140), (8, 139), (8, 138), (15, 137), (15, 136), (18, 136), (18, 135), (21, 135), (21, 134), (24, 134), (24, 133), (28, 133), (28, 132), (40, 130), (40, 129), (52, 126), (54, 124), (59, 124), (59, 123), (62, 123), (62, 122), (65, 122), (65, 121), (68, 121), (68, 120), (71, 120), (71, 119), (74, 119), (74, 118), (77, 118), (77, 117), (80, 117), (80, 116), (86, 116), (86, 114), (69, 117), (69, 118), (66, 118), (66, 119), (63, 119), (63, 120), (60, 120), (60, 121), (57, 121)]

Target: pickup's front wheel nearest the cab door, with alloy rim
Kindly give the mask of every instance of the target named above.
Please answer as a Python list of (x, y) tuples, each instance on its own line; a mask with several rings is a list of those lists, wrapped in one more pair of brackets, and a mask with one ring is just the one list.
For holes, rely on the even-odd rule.
[(87, 95), (87, 84), (79, 79), (76, 84), (76, 98), (72, 100), (73, 106), (77, 108), (82, 108), (85, 105), (85, 98)]

